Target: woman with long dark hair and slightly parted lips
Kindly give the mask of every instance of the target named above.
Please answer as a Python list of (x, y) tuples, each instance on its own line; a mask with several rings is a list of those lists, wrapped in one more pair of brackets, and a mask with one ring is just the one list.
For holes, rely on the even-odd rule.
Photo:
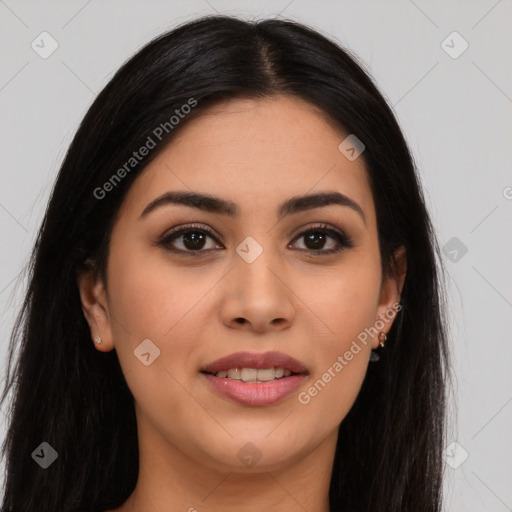
[(215, 16), (125, 63), (11, 340), (12, 512), (440, 511), (438, 247), (347, 51)]

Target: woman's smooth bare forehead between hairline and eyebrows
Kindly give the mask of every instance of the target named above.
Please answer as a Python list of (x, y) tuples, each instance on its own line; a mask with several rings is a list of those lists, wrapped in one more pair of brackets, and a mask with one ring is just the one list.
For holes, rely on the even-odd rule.
[(371, 215), (364, 160), (350, 161), (338, 149), (348, 135), (295, 97), (225, 101), (176, 133), (135, 180), (126, 201), (140, 210), (167, 190), (199, 191), (254, 213), (283, 198), (337, 190)]

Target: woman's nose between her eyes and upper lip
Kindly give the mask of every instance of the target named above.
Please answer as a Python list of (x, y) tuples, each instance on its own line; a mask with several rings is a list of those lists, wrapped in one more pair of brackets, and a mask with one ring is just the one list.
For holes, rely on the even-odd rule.
[(295, 315), (293, 292), (283, 266), (264, 251), (255, 261), (235, 260), (221, 306), (223, 323), (257, 333), (290, 327)]

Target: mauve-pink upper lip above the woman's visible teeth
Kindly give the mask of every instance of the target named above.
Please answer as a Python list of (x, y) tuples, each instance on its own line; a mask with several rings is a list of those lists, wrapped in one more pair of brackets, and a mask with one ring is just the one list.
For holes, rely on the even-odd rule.
[(230, 368), (285, 368), (292, 373), (307, 373), (306, 367), (300, 361), (282, 352), (236, 352), (213, 361), (201, 371), (215, 374)]

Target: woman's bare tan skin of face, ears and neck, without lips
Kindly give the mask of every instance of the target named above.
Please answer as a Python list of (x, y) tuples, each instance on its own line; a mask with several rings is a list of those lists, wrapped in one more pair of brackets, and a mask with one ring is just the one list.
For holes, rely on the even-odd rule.
[[(403, 251), (397, 272), (381, 273), (364, 161), (349, 161), (338, 149), (347, 135), (300, 99), (231, 100), (184, 125), (131, 186), (113, 227), (106, 286), (92, 273), (78, 279), (91, 336), (103, 341), (96, 348), (117, 351), (136, 402), (139, 480), (117, 511), (238, 512), (241, 503), (247, 512), (329, 510), (338, 427), (377, 337), (360, 344), (309, 403), (297, 395), (392, 309), (405, 277)], [(139, 219), (152, 200), (178, 190), (231, 200), (240, 215), (169, 204)], [(339, 205), (277, 220), (283, 201), (320, 191), (347, 195), (364, 220)], [(218, 235), (199, 245), (203, 255), (156, 245), (170, 228), (190, 223)], [(319, 223), (343, 230), (354, 247), (311, 255), (338, 246), (331, 235), (316, 245), (298, 236)], [(247, 236), (263, 248), (250, 264), (236, 252)], [(169, 244), (194, 247), (183, 235)], [(160, 350), (149, 366), (134, 356), (144, 339)], [(284, 352), (302, 361), (309, 376), (277, 404), (232, 402), (199, 371), (244, 350)], [(246, 443), (261, 455), (252, 467), (237, 457)]]

